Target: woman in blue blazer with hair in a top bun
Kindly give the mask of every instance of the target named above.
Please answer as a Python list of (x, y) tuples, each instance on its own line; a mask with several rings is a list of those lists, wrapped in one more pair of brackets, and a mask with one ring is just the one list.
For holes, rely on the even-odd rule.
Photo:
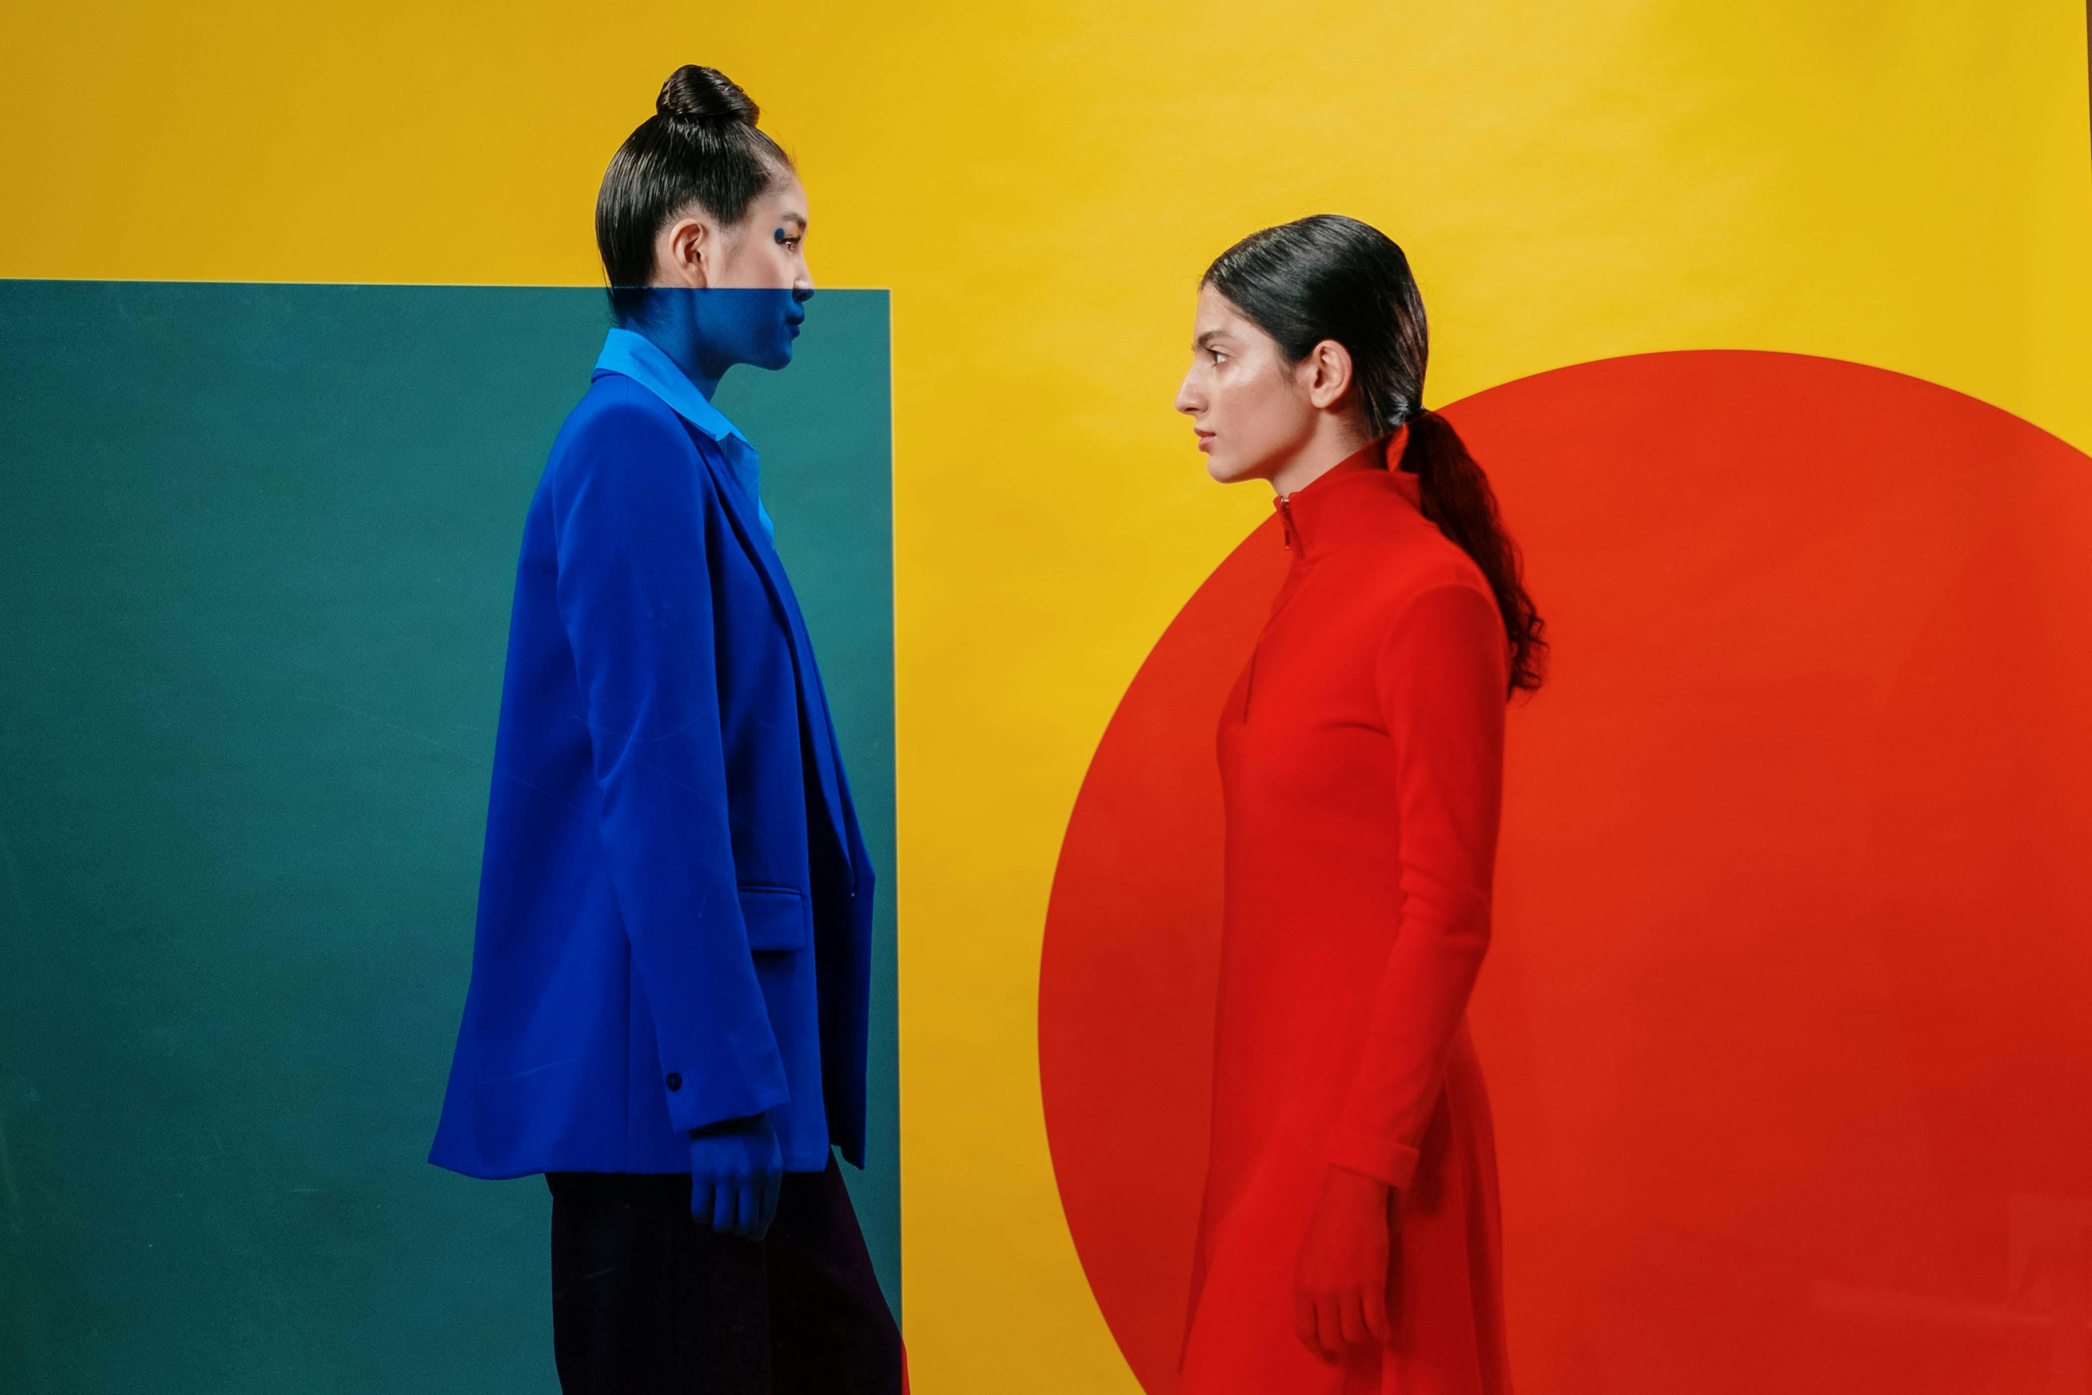
[(713, 69), (617, 151), (617, 328), (523, 531), (473, 983), (431, 1161), (546, 1173), (571, 1391), (897, 1391), (864, 1165), (872, 868), (732, 364), (782, 368), (805, 190)]

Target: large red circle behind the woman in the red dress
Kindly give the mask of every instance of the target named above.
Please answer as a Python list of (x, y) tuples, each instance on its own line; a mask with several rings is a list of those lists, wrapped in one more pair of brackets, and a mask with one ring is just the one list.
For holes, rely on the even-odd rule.
[[(1473, 1006), (1519, 1387), (2082, 1395), (2092, 460), (1784, 353), (1446, 414), (1556, 650)], [(1213, 724), (1284, 565), (1259, 527), (1157, 642), (1046, 924), (1054, 1171), (1151, 1395), (1205, 1167)]]

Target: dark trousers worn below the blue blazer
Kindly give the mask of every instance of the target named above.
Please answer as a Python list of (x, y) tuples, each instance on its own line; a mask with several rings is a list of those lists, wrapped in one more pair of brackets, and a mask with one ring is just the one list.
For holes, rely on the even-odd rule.
[(900, 1395), (902, 1334), (843, 1173), (784, 1173), (761, 1240), (690, 1219), (688, 1175), (546, 1173), (567, 1395)]

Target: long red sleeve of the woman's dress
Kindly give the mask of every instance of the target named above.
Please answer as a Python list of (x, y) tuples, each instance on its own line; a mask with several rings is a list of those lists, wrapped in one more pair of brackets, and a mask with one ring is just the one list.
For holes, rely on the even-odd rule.
[(1496, 600), (1460, 584), (1412, 600), (1374, 663), (1395, 742), (1402, 920), (1328, 1161), (1389, 1186), (1408, 1186), (1416, 1169), (1490, 947), (1508, 665)]

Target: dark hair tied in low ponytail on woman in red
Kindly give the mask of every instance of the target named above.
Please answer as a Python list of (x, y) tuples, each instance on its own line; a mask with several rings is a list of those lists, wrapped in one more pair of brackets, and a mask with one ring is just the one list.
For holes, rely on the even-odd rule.
[(1414, 471), (1427, 519), (1460, 546), (1496, 594), (1510, 638), (1510, 692), (1540, 688), (1546, 625), (1521, 577), (1496, 491), (1466, 443), (1423, 406), (1431, 333), (1410, 259), (1370, 224), (1337, 213), (1251, 232), (1220, 253), (1205, 282), (1228, 297), (1291, 362), (1324, 339), (1351, 356), (1360, 406), (1374, 435), (1408, 427), (1402, 468)]

